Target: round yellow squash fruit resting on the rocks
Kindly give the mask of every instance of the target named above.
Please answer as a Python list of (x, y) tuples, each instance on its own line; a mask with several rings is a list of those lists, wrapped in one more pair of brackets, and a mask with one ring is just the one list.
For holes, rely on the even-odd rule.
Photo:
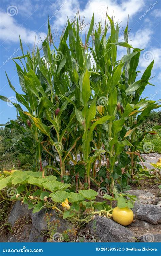
[(112, 212), (112, 218), (115, 222), (127, 226), (133, 221), (133, 211), (128, 207), (115, 207)]

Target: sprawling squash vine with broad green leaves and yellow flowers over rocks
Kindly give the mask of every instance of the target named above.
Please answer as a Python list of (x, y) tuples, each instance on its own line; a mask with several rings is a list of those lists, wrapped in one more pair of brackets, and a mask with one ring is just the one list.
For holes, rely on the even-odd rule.
[[(110, 215), (113, 211), (112, 204), (108, 205), (106, 200), (96, 202), (98, 193), (92, 189), (74, 193), (70, 191), (70, 184), (57, 181), (53, 175), (43, 178), (41, 172), (14, 170), (9, 176), (7, 175), (8, 173), (4, 172), (0, 177), (1, 196), (8, 200), (20, 200), (22, 204), (28, 205), (28, 209), (33, 209), (33, 213), (44, 208), (46, 210), (52, 208), (63, 219), (69, 219), (72, 223), (89, 222), (96, 214), (112, 216)], [(129, 199), (126, 199), (127, 196)], [(116, 198), (105, 195), (104, 198), (110, 202), (117, 200), (119, 208), (133, 208), (135, 201), (135, 196), (130, 194), (119, 194)]]

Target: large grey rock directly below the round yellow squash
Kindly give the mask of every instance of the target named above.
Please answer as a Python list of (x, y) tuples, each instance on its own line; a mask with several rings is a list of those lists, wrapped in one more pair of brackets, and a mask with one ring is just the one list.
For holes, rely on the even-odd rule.
[(98, 242), (135, 242), (133, 232), (105, 217), (96, 216), (86, 227)]

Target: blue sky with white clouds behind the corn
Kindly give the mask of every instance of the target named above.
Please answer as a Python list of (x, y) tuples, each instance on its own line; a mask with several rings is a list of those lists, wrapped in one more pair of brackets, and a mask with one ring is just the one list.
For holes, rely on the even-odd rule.
[[(0, 95), (11, 97), (10, 99), (15, 97), (8, 85), (5, 71), (17, 92), (21, 92), (15, 64), (10, 58), (13, 55), (21, 55), (18, 34), (21, 36), (24, 50), (27, 50), (28, 47), (33, 47), (35, 36), (37, 42), (40, 36), (42, 39), (46, 36), (48, 15), (53, 31), (57, 29), (61, 32), (67, 16), (73, 18), (77, 9), (81, 16), (85, 15), (86, 22), (90, 22), (94, 12), (97, 22), (108, 7), (108, 15), (111, 16), (114, 11), (115, 21), (118, 20), (123, 28), (129, 14), (129, 43), (133, 47), (145, 48), (141, 53), (138, 70), (144, 72), (155, 59), (152, 73), (155, 77), (151, 83), (156, 87), (148, 85), (142, 96), (153, 100), (161, 98), (160, 0), (1, 0), (0, 4)], [(119, 38), (121, 41), (121, 34)], [(122, 54), (122, 48), (118, 48), (118, 59)], [(15, 107), (0, 101), (0, 123), (4, 124), (15, 118)]]

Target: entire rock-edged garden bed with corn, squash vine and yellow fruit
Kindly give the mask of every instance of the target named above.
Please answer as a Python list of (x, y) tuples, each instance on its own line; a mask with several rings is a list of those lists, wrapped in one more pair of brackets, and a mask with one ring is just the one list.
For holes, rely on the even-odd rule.
[[(120, 42), (108, 15), (96, 26), (93, 15), (83, 37), (84, 27), (78, 12), (57, 46), (48, 18), (42, 48), (24, 54), (20, 39), (22, 56), (13, 58), (22, 94), (6, 74), (16, 103), (0, 99), (18, 113), (2, 125), (0, 141), (1, 239), (8, 242), (160, 239), (161, 157), (151, 153), (160, 152), (159, 112), (145, 126), (160, 101), (142, 98), (154, 60), (140, 76), (142, 49), (128, 43), (128, 24)], [(126, 50), (119, 59), (118, 47)]]

